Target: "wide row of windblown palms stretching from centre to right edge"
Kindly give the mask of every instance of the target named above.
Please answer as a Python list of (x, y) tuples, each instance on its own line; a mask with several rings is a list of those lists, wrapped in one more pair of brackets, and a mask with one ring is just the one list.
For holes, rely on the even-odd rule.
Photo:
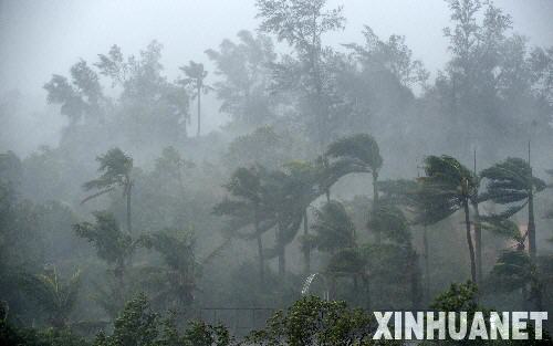
[[(533, 199), (546, 185), (532, 175), (530, 162), (521, 158), (508, 158), (478, 172), (474, 153), (472, 170), (450, 156), (428, 156), (424, 164), (422, 177), (380, 181), (378, 172), (383, 158), (377, 143), (366, 134), (352, 135), (330, 144), (325, 153), (313, 161), (292, 161), (275, 171), (261, 166), (238, 168), (225, 186), (229, 197), (215, 207), (215, 213), (229, 218), (229, 239), (257, 240), (261, 277), (264, 261), (274, 256), (279, 258), (279, 274), (284, 276), (285, 248), (295, 239), (302, 223), (305, 273), (311, 271), (311, 251), (319, 249), (331, 255), (327, 273), (334, 277), (347, 273), (357, 284), (358, 277), (367, 280), (368, 272), (373, 276), (377, 273), (374, 264), (367, 263), (374, 255), (366, 253), (375, 254), (388, 249), (388, 252), (405, 259), (413, 303), (416, 305), (421, 297), (421, 283), (410, 227), (425, 227), (426, 239), (427, 226), (461, 211), (471, 281), (484, 283), (482, 230), (508, 234), (515, 241), (515, 250), (501, 253), (489, 280), (504, 280), (513, 271), (523, 271), (524, 275), (521, 273), (519, 276), (528, 280), (521, 280), (515, 286), (523, 291), (530, 289), (529, 298), (540, 301), (540, 285), (536, 276), (531, 275), (535, 272), (536, 263)], [(367, 228), (373, 233), (374, 242), (363, 247), (356, 244), (355, 227), (346, 210), (340, 202), (331, 200), (330, 195), (331, 187), (349, 174), (369, 174), (372, 178), (373, 201)], [(326, 196), (326, 205), (315, 209), (315, 219), (310, 226), (307, 210), (322, 196)], [(482, 214), (482, 203), (494, 203), (499, 207), (494, 210), (500, 211)], [(521, 233), (510, 218), (524, 207), (528, 207), (528, 230)], [(265, 249), (262, 235), (273, 229), (274, 249)], [(429, 250), (428, 242), (424, 243), (427, 279), (424, 292), (428, 294)]]

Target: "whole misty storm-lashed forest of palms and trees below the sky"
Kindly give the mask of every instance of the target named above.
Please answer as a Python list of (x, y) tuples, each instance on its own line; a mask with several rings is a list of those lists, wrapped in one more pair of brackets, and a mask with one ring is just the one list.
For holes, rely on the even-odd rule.
[(55, 146), (17, 155), (2, 95), (0, 344), (403, 345), (372, 312), (551, 315), (553, 42), (446, 3), (438, 71), (371, 23), (327, 44), (341, 6), (255, 0), (177, 78), (155, 40), (52, 74)]

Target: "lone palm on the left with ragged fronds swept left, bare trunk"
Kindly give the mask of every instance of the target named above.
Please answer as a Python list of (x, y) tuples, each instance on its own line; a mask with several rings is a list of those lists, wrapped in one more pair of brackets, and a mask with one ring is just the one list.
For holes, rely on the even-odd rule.
[(86, 191), (100, 191), (86, 197), (81, 203), (85, 203), (93, 198), (111, 192), (117, 187), (123, 188), (123, 196), (126, 197), (127, 205), (127, 231), (132, 233), (131, 191), (133, 188), (133, 158), (123, 153), (119, 148), (113, 148), (106, 154), (98, 156), (96, 160), (100, 162), (98, 171), (102, 172), (102, 175), (96, 179), (86, 181), (83, 188)]

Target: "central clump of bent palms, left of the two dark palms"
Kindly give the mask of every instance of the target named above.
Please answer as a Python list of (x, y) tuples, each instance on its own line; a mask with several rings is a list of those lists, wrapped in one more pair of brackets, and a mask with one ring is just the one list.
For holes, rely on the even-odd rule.
[[(285, 249), (303, 226), (302, 250), (305, 273), (310, 273), (313, 249), (328, 252), (336, 259), (335, 264), (345, 253), (341, 251), (355, 247), (355, 227), (344, 207), (331, 200), (331, 187), (345, 175), (368, 172), (377, 199), (376, 181), (382, 162), (374, 138), (359, 134), (331, 144), (324, 155), (313, 161), (291, 161), (282, 170), (268, 170), (259, 165), (240, 167), (225, 185), (229, 197), (218, 203), (213, 212), (228, 217), (229, 239), (257, 240), (261, 282), (264, 262), (272, 258), (279, 259), (279, 275), (284, 277)], [(326, 205), (315, 210), (315, 221), (310, 227), (309, 209), (323, 196)], [(315, 233), (311, 234), (310, 229)], [(271, 230), (275, 231), (275, 242), (268, 249), (262, 235)]]

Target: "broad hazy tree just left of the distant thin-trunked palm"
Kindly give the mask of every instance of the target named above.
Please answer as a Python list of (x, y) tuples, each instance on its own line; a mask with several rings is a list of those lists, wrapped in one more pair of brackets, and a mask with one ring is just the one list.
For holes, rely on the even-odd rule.
[(163, 75), (161, 50), (159, 42), (152, 41), (138, 55), (125, 56), (113, 45), (107, 54), (98, 54), (94, 64), (112, 87), (121, 88), (111, 104), (121, 135), (137, 146), (147, 143), (148, 149), (160, 138), (164, 146), (180, 143), (190, 120), (186, 88)]

